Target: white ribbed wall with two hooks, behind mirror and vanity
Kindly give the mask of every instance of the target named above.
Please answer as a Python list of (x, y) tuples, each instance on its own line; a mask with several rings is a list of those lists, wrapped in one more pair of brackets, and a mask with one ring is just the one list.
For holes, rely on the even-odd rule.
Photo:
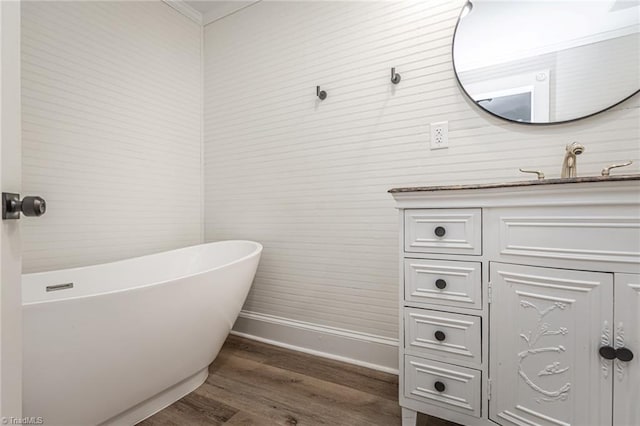
[[(637, 96), (545, 127), (471, 105), (450, 54), (462, 4), (263, 1), (205, 27), (205, 234), (264, 244), (245, 311), (393, 339), (388, 189), (530, 178), (519, 167), (557, 177), (575, 140), (581, 174), (626, 159), (638, 172)], [(430, 151), (429, 123), (443, 120), (450, 148)]]

